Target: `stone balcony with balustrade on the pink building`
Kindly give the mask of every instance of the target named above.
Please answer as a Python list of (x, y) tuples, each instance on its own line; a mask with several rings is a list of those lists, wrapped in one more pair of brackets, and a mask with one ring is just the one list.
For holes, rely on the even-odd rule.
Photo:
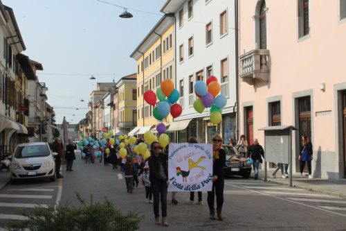
[(239, 56), (240, 78), (249, 85), (255, 80), (268, 82), (269, 50), (255, 49)]

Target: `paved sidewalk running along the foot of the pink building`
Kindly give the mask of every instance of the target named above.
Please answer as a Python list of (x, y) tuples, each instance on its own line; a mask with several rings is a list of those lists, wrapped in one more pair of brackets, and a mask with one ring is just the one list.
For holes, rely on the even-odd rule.
[[(272, 174), (275, 169), (267, 169), (267, 182), (274, 182), (280, 185), (289, 186), (289, 178), (282, 178), (281, 171), (277, 171), (276, 178)], [(251, 177), (254, 177), (254, 172), (251, 171)], [(325, 180), (320, 178), (308, 179), (307, 176), (300, 178), (300, 173), (293, 173), (292, 186), (309, 191), (316, 191), (321, 194), (331, 196), (339, 196), (346, 198), (346, 179), (345, 180)], [(259, 180), (264, 180), (264, 169), (259, 171)]]

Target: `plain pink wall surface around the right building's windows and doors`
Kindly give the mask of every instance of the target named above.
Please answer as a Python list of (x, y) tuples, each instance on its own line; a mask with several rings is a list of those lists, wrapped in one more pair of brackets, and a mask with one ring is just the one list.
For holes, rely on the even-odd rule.
[[(260, 1), (239, 1), (239, 55), (256, 48), (253, 16), (257, 3)], [(330, 178), (328, 172), (334, 173), (331, 178), (343, 177), (345, 172), (345, 163), (340, 164), (345, 162), (345, 153), (338, 133), (342, 123), (337, 119), (340, 102), (336, 88), (346, 89), (346, 19), (339, 19), (339, 3), (309, 1), (310, 33), (298, 39), (298, 0), (266, 1), (266, 46), (271, 62), (268, 83), (239, 81), (240, 134), (245, 130), (244, 106), (252, 105), (253, 136), (262, 144), (264, 132), (258, 129), (268, 126), (268, 98), (282, 97), (281, 124), (298, 126), (295, 98), (311, 96), (311, 142), (314, 153), (321, 153), (320, 159), (313, 160), (313, 169), (320, 167), (316, 176), (322, 178)], [(325, 92), (320, 90), (321, 83), (325, 83)], [(323, 111), (331, 112), (317, 116)], [(293, 137), (293, 158), (298, 157), (295, 147), (299, 140)], [(293, 162), (298, 165), (297, 159)]]

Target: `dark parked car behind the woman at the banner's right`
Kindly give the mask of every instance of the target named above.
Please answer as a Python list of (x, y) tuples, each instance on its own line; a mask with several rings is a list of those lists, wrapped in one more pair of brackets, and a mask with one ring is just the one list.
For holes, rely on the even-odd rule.
[(249, 178), (252, 166), (248, 159), (239, 154), (237, 149), (229, 145), (222, 145), (226, 151), (226, 162), (224, 165), (224, 176), (239, 175), (243, 178)]

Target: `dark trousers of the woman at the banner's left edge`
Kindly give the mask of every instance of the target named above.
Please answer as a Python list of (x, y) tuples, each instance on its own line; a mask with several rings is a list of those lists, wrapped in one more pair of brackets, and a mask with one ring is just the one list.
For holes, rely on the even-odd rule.
[(160, 216), (158, 212), (158, 204), (161, 200), (161, 213), (163, 217), (167, 216), (167, 184), (165, 181), (152, 182), (152, 193), (154, 196), (154, 216), (155, 218)]

